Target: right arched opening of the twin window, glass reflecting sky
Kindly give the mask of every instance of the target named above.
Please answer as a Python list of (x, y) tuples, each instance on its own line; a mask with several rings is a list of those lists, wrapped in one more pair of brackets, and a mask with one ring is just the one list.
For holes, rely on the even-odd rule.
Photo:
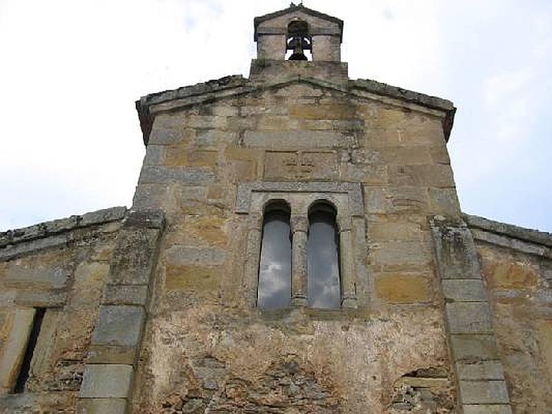
[(339, 235), (333, 206), (317, 202), (308, 212), (308, 306), (339, 308)]

